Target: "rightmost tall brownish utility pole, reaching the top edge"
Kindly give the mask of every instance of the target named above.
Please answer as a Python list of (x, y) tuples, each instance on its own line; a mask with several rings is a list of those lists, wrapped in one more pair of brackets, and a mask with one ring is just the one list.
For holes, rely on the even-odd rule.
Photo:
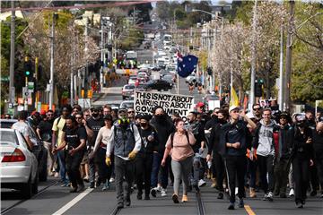
[(286, 41), (286, 63), (285, 63), (285, 79), (284, 79), (284, 109), (290, 110), (291, 108), (291, 73), (292, 73), (292, 25), (294, 17), (295, 2), (289, 1), (290, 4), (290, 17), (287, 29)]

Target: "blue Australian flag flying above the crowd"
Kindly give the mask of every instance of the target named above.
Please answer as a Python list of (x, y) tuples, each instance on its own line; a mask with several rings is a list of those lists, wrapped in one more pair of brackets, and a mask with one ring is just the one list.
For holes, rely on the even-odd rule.
[(178, 52), (178, 73), (180, 77), (186, 78), (190, 73), (196, 70), (198, 57), (196, 56), (181, 56)]

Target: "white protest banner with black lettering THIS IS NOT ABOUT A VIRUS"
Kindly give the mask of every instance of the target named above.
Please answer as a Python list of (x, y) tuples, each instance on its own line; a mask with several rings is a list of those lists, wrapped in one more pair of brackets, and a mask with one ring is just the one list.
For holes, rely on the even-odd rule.
[(161, 106), (167, 115), (179, 114), (186, 121), (189, 111), (194, 109), (194, 98), (153, 91), (135, 91), (136, 114), (151, 114), (151, 110), (156, 106)]

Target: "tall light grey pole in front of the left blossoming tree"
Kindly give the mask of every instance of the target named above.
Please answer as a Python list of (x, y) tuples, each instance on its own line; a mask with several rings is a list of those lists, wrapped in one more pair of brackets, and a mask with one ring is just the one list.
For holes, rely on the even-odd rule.
[(49, 80), (49, 109), (53, 108), (54, 100), (54, 41), (55, 41), (55, 19), (57, 13), (52, 14), (52, 28), (50, 36), (50, 80)]

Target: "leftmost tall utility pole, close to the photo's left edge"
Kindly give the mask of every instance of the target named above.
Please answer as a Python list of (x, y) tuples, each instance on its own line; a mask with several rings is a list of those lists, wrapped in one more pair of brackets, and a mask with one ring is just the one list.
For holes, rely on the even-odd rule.
[(10, 32), (10, 74), (9, 74), (9, 103), (14, 103), (14, 0), (12, 0), (12, 17), (11, 17), (11, 32)]

